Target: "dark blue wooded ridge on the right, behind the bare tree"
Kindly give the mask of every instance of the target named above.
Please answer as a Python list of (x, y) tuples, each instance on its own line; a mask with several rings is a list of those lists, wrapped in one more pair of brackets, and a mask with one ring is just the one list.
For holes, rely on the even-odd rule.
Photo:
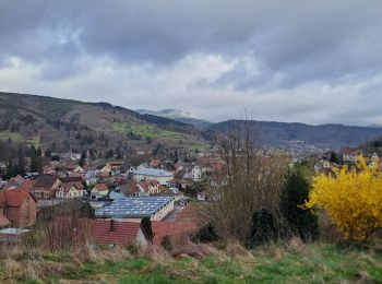
[[(215, 123), (208, 128), (206, 133), (226, 131), (230, 126), (242, 122), (242, 120), (227, 120)], [(334, 123), (309, 126), (299, 122), (255, 120), (250, 121), (250, 123), (259, 130), (259, 142), (262, 145), (286, 149), (290, 147), (296, 141), (303, 141), (303, 143), (319, 149), (339, 150), (342, 146), (358, 146), (366, 141), (382, 135), (382, 128), (350, 127)]]

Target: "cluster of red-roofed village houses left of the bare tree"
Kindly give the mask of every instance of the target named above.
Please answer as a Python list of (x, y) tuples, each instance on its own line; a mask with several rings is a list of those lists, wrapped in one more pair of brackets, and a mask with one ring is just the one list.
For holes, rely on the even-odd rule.
[[(181, 208), (187, 204), (182, 189), (201, 181), (213, 166), (151, 159), (136, 168), (120, 161), (91, 167), (80, 166), (80, 157), (69, 163), (51, 161), (44, 173), (1, 181), (0, 241), (19, 241), (34, 229), (40, 210), (72, 201), (94, 208), (95, 218), (87, 224), (97, 245), (147, 244), (141, 224), (144, 217), (153, 221), (162, 235), (166, 235), (166, 227), (171, 228), (171, 235), (195, 229), (189, 222), (172, 221), (169, 225), (166, 217), (176, 203)], [(157, 242), (160, 234), (156, 234)]]

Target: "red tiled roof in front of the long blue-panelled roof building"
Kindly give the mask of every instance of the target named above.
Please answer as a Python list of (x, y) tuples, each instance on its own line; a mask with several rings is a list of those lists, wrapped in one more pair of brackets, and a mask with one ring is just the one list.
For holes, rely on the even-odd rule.
[(121, 220), (88, 220), (91, 234), (97, 245), (120, 245), (136, 241), (141, 228), (140, 222), (127, 222)]

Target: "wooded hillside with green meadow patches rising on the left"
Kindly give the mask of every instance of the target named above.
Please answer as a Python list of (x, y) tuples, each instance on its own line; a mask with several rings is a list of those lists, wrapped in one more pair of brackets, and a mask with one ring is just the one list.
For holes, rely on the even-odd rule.
[(94, 149), (117, 154), (150, 152), (158, 143), (171, 150), (204, 146), (200, 130), (190, 123), (104, 102), (5, 92), (0, 92), (0, 140), (52, 152)]

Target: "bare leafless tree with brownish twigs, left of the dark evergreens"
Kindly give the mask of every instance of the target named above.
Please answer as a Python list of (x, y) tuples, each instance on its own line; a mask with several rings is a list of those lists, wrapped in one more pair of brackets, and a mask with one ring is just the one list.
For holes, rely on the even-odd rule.
[(202, 211), (219, 236), (244, 240), (255, 210), (268, 209), (279, 220), (279, 192), (287, 157), (263, 155), (253, 121), (232, 121), (217, 137), (224, 169), (215, 173), (208, 189), (210, 202)]

